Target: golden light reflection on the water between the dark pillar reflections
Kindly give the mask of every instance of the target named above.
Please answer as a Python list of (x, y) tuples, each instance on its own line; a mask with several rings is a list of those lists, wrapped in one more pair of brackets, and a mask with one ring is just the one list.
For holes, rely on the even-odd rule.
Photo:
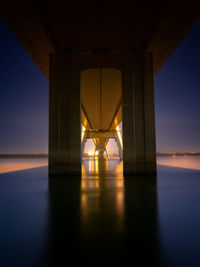
[[(115, 227), (121, 231), (124, 223), (124, 179), (121, 161), (98, 158), (83, 162), (85, 173), (81, 180), (81, 214), (91, 225), (94, 215), (113, 213)], [(119, 172), (119, 173), (118, 173)]]

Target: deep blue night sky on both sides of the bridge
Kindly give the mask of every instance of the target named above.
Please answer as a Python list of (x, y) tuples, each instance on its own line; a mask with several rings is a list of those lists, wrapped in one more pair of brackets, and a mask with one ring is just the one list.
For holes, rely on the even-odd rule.
[[(0, 153), (48, 150), (48, 80), (0, 20)], [(200, 151), (200, 19), (155, 77), (157, 151)]]

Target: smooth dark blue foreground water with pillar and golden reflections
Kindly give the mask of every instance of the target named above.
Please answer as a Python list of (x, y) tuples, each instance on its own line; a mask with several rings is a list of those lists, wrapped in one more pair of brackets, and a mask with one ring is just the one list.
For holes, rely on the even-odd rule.
[(0, 266), (200, 266), (200, 171), (123, 178), (86, 160), (83, 178), (47, 167), (0, 175)]

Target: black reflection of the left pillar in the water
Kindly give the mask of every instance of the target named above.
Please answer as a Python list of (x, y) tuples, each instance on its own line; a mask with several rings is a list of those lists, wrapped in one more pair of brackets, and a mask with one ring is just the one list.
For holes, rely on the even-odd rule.
[[(49, 179), (48, 257), (43, 266), (63, 266), (74, 262), (74, 252), (81, 253), (80, 240), (80, 178)], [(76, 265), (76, 263), (75, 263)]]

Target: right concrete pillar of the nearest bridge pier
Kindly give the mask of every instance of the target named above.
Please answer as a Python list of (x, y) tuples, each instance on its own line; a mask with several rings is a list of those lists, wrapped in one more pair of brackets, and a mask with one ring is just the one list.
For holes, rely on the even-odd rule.
[(125, 56), (122, 71), (124, 174), (155, 174), (155, 113), (152, 54)]

